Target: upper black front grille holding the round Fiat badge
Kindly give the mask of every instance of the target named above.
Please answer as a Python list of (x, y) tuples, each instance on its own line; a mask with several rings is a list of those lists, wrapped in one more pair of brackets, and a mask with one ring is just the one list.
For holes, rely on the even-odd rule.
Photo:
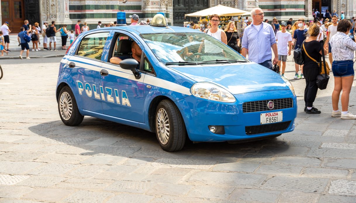
[[(273, 101), (274, 107), (273, 109), (269, 109), (267, 103), (269, 101)], [(293, 99), (292, 98), (284, 98), (284, 99), (270, 99), (270, 100), (261, 100), (255, 102), (245, 102), (242, 104), (242, 111), (244, 113), (257, 112), (257, 111), (270, 111), (277, 109), (287, 109), (293, 107)]]

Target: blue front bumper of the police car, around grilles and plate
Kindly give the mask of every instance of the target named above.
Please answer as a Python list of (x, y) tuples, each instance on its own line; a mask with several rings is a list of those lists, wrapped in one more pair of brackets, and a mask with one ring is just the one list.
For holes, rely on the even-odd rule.
[[(175, 103), (183, 116), (189, 139), (195, 142), (235, 141), (282, 134), (294, 130), (294, 119), (297, 117), (297, 98), (293, 96), (290, 90), (252, 92), (234, 96), (237, 100), (235, 103), (215, 102), (200, 99), (193, 95), (177, 100)], [(293, 107), (251, 113), (243, 113), (242, 111), (242, 104), (244, 102), (282, 98), (292, 98)], [(260, 124), (261, 113), (275, 111), (283, 111), (283, 122), (273, 124), (282, 125), (284, 123), (286, 127), (283, 127), (284, 130), (273, 131), (273, 129), (278, 128), (268, 128), (265, 125), (270, 124)], [(219, 135), (210, 132), (209, 125), (224, 126), (225, 134)], [(260, 129), (262, 126), (262, 131), (255, 131), (258, 132), (257, 134), (246, 134), (246, 130), (250, 131), (253, 129), (253, 126)]]

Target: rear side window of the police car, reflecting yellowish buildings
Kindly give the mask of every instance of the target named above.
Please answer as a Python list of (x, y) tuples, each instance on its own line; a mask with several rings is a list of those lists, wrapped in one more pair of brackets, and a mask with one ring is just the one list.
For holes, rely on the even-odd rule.
[(77, 55), (100, 60), (108, 35), (109, 32), (99, 32), (85, 36), (80, 42)]

